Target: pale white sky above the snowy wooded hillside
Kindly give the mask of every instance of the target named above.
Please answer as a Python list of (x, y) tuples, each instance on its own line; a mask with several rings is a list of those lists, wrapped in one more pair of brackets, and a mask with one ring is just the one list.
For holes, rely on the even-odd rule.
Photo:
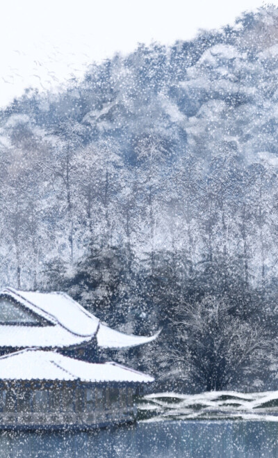
[[(273, 1), (278, 5), (278, 0)], [(0, 105), (26, 87), (58, 88), (138, 42), (172, 44), (232, 24), (257, 0), (1, 0)]]

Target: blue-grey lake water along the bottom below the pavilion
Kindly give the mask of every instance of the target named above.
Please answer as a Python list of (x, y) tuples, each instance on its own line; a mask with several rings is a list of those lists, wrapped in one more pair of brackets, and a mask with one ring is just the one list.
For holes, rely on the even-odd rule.
[(278, 458), (278, 423), (168, 421), (76, 433), (0, 434), (2, 458)]

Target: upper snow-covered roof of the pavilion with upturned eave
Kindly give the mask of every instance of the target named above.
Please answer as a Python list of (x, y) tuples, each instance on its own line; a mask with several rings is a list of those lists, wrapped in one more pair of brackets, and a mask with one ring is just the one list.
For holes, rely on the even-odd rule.
[(115, 331), (63, 292), (26, 292), (9, 287), (0, 291), (1, 296), (21, 303), (49, 322), (49, 326), (0, 324), (0, 347), (72, 347), (89, 342), (97, 333), (99, 347), (117, 349), (152, 342), (157, 336)]

